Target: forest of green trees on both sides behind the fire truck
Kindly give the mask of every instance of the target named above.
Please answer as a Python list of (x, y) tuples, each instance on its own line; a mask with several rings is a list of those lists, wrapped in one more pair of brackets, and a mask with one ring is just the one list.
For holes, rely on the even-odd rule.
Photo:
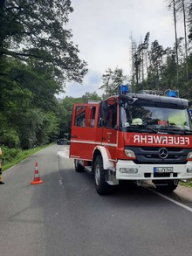
[[(150, 31), (142, 42), (127, 36), (132, 73), (108, 68), (102, 75), (101, 98), (93, 92), (58, 99), (66, 82), (82, 83), (88, 66), (79, 59), (78, 45), (65, 26), (73, 11), (71, 1), (0, 0), (0, 146), (31, 149), (68, 136), (73, 103), (102, 100), (125, 83), (134, 93), (176, 89), (191, 101), (192, 3), (171, 0), (168, 8), (175, 21), (173, 47), (164, 49), (158, 40), (150, 43)], [(177, 38), (181, 16), (185, 36)]]

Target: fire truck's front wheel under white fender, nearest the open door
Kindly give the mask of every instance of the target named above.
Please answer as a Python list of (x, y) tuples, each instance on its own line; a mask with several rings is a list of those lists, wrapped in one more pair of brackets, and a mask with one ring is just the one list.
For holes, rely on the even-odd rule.
[(103, 169), (103, 159), (97, 156), (94, 163), (95, 187), (99, 195), (106, 195), (109, 191), (109, 185), (106, 183), (105, 170)]

